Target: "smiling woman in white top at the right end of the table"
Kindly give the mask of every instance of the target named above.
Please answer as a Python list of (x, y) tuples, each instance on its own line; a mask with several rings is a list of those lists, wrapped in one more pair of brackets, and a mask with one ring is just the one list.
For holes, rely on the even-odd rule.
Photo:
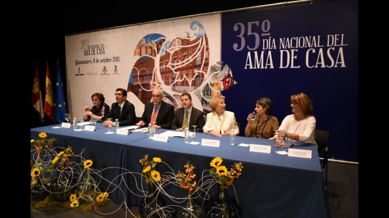
[[(290, 98), (293, 114), (287, 115), (282, 120), (277, 133), (284, 132), (286, 141), (302, 141), (316, 144), (315, 128), (316, 119), (312, 115), (312, 101), (305, 93), (294, 94)], [(277, 136), (270, 138), (276, 139), (275, 146), (280, 145)]]

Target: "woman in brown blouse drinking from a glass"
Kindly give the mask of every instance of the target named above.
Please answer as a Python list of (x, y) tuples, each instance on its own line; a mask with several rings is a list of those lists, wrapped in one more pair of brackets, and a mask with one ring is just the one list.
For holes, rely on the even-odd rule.
[(244, 130), (246, 137), (254, 138), (272, 138), (274, 136), (273, 128), (279, 127), (277, 117), (270, 115), (273, 111), (272, 100), (264, 97), (256, 101), (256, 116), (251, 120), (251, 114), (247, 117), (247, 124)]

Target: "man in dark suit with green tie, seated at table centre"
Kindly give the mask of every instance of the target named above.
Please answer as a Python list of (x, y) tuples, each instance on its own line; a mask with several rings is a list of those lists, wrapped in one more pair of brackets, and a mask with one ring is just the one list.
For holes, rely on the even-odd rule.
[[(204, 114), (201, 110), (196, 109), (192, 106), (191, 94), (185, 92), (181, 95), (181, 108), (177, 109), (174, 115), (172, 128), (179, 131), (184, 131), (185, 127), (189, 127), (190, 131), (193, 131), (192, 125), (196, 126), (196, 133), (203, 132), (203, 126), (205, 125)], [(185, 113), (187, 111), (187, 119), (185, 120)], [(186, 126), (184, 127), (184, 123)]]

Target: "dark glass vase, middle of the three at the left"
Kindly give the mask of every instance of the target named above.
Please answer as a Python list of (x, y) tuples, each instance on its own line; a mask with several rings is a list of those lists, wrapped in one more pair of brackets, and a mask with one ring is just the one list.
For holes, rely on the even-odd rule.
[(64, 171), (55, 171), (56, 177), (51, 181), (51, 196), (54, 201), (69, 201), (69, 197), (74, 193), (74, 187)]

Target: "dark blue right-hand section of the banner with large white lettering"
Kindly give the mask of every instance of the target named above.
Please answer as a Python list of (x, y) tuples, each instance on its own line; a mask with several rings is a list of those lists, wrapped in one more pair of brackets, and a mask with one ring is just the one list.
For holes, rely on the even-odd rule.
[(358, 2), (225, 13), (222, 26), (222, 60), (237, 82), (223, 95), (238, 122), (247, 123), (256, 100), (267, 96), (281, 123), (292, 114), (290, 96), (304, 92), (312, 99), (316, 129), (330, 132), (329, 158), (357, 162)]

